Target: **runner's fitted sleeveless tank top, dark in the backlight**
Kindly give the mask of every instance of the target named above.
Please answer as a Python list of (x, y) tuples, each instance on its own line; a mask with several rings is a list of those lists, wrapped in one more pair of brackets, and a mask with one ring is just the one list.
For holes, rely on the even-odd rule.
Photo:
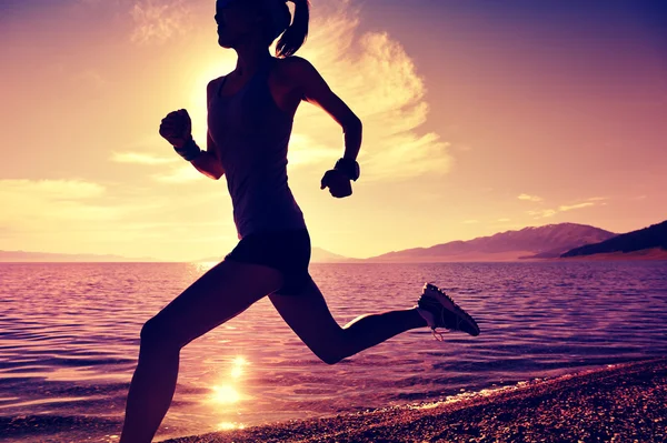
[(233, 95), (220, 95), (225, 75), (208, 103), (208, 131), (220, 152), (239, 239), (306, 228), (287, 177), (293, 120), (271, 95), (272, 62), (272, 57), (265, 59)]

